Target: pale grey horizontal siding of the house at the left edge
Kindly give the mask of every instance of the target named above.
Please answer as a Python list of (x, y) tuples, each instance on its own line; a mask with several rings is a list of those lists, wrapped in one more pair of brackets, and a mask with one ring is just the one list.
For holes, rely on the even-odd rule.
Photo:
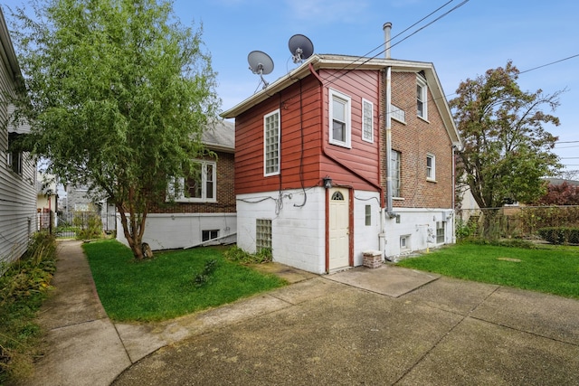
[[(5, 30), (4, 16), (0, 33)], [(5, 42), (5, 41), (4, 41)], [(2, 45), (0, 62), (0, 122), (8, 119), (5, 92), (13, 92), (14, 75), (6, 55), (14, 58), (12, 47)], [(0, 127), (3, 127), (1, 125)], [(12, 131), (14, 128), (10, 128)], [(26, 250), (28, 240), (36, 229), (36, 163), (23, 155), (23, 173), (14, 174), (7, 162), (8, 132), (0, 129), (0, 262), (18, 259)]]

